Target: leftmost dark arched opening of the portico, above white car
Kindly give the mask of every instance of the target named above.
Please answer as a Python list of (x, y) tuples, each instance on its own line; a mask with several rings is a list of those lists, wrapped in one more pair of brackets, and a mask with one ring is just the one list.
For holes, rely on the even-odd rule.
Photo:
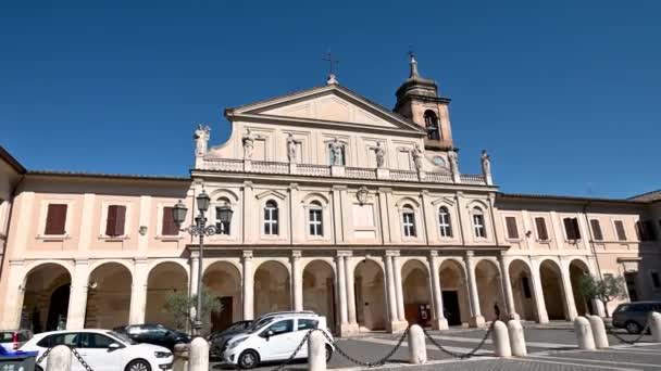
[(68, 314), (71, 272), (59, 263), (34, 266), (23, 279), (22, 329), (34, 333), (64, 329)]

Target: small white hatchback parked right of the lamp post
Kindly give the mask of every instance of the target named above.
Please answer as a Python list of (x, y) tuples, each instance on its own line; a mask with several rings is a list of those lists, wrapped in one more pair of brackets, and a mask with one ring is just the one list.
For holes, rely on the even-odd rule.
[[(269, 317), (249, 332), (234, 336), (227, 342), (223, 358), (242, 369), (252, 369), (260, 362), (286, 360), (311, 329), (324, 331), (330, 340), (326, 340), (326, 360), (329, 360), (335, 347), (333, 335), (326, 329), (326, 318), (300, 312)], [(308, 358), (307, 342), (295, 357), (300, 358)]]

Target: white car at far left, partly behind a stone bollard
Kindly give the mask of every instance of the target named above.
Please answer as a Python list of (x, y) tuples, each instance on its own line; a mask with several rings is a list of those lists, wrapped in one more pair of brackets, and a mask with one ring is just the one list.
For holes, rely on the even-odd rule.
[[(37, 357), (55, 345), (68, 345), (78, 351), (95, 371), (160, 371), (172, 369), (172, 353), (162, 346), (138, 344), (111, 330), (51, 331), (36, 334), (21, 347), (24, 351), (38, 351)], [(48, 356), (36, 370), (46, 369)], [(85, 368), (74, 357), (72, 371)]]

